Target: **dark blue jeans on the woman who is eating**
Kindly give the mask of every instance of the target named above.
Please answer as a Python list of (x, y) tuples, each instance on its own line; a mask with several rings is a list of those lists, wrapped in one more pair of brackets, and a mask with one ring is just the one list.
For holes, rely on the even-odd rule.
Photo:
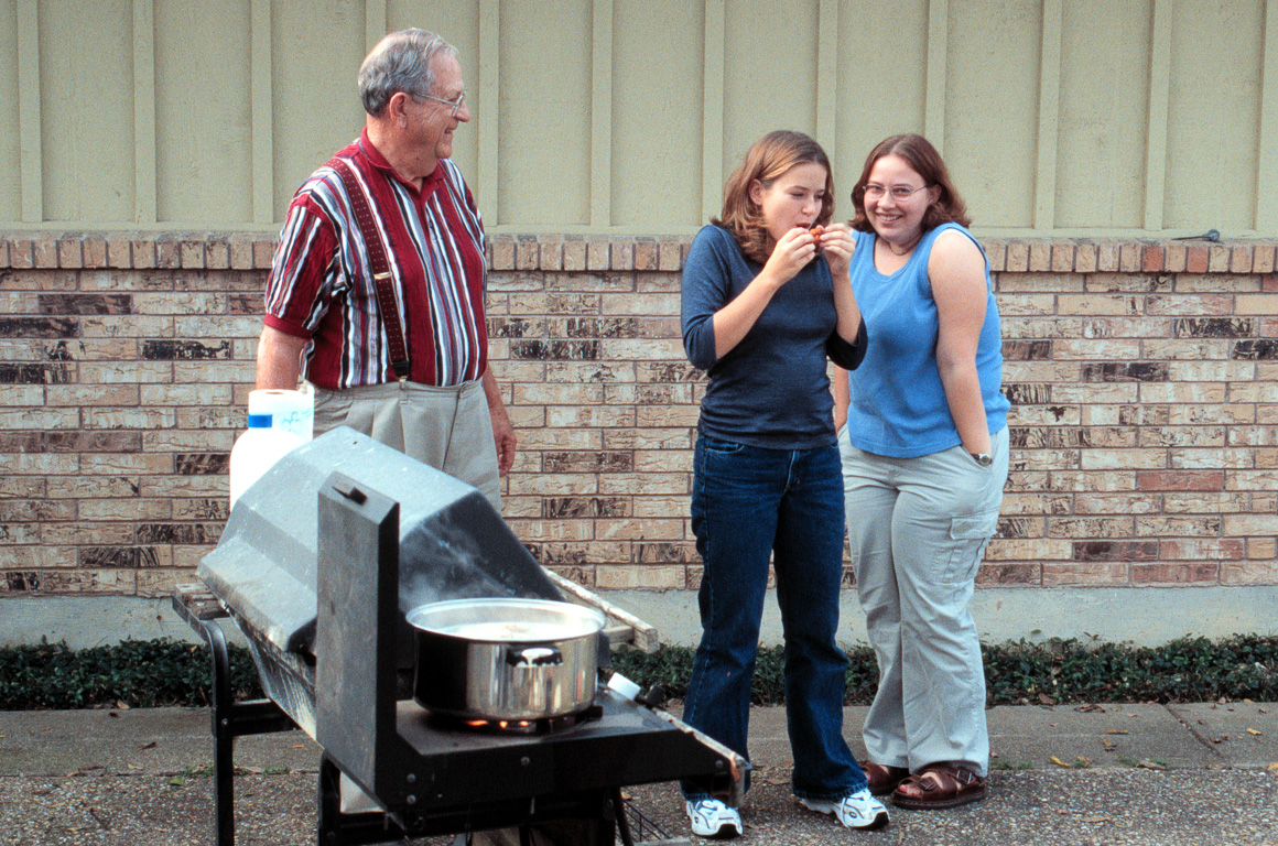
[[(842, 799), (865, 786), (865, 774), (843, 740), (847, 656), (835, 643), (843, 560), (838, 447), (768, 450), (699, 436), (694, 463), (703, 633), (684, 721), (749, 759), (750, 679), (771, 556), (794, 792)], [(708, 796), (708, 785), (695, 780), (682, 790), (693, 801)]]

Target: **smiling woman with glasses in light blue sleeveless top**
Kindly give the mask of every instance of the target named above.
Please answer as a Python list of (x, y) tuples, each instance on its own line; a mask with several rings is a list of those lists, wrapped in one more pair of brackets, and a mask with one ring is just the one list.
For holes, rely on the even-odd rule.
[(893, 135), (852, 189), (850, 276), (874, 344), (835, 392), (856, 592), (879, 667), (863, 764), (901, 808), (985, 796), (989, 737), (967, 602), (1007, 481), (989, 263), (935, 148)]

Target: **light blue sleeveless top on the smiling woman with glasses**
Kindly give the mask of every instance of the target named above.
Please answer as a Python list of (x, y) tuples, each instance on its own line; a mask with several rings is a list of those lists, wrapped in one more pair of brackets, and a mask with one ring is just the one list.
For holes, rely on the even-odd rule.
[[(930, 455), (962, 443), (937, 369), (937, 302), (928, 280), (928, 258), (937, 235), (957, 229), (943, 224), (925, 233), (901, 270), (891, 276), (874, 267), (874, 234), (855, 233), (852, 293), (861, 307), (869, 345), (865, 360), (849, 373), (851, 405), (847, 435), (852, 446), (892, 458)], [(982, 248), (982, 256), (985, 250)], [(993, 435), (1007, 426), (1011, 404), (1001, 394), (1003, 353), (998, 304), (989, 290), (985, 261), (985, 322), (976, 345), (976, 376)]]

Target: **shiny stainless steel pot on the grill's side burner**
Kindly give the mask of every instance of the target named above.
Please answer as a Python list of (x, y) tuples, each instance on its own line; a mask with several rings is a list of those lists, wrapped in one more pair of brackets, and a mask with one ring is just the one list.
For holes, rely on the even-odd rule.
[(413, 698), (464, 719), (562, 717), (594, 702), (603, 615), (547, 599), (451, 599), (408, 613)]

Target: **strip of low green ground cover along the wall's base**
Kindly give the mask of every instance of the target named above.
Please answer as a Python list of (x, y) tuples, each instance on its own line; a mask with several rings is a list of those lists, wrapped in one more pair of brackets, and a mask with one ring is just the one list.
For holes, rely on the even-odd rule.
[[(1077, 704), (1105, 702), (1278, 700), (1278, 636), (1238, 635), (1212, 642), (1182, 638), (1160, 647), (1052, 639), (983, 645), (988, 702)], [(642, 688), (688, 691), (694, 650), (612, 653), (613, 670)], [(755, 704), (785, 702), (781, 647), (759, 649)], [(262, 695), (248, 652), (231, 647), (235, 696)], [(847, 704), (869, 704), (878, 682), (874, 653), (849, 650)], [(0, 649), (0, 711), (33, 708), (151, 708), (206, 705), (208, 648), (173, 640), (127, 640), (73, 650), (63, 644)]]

